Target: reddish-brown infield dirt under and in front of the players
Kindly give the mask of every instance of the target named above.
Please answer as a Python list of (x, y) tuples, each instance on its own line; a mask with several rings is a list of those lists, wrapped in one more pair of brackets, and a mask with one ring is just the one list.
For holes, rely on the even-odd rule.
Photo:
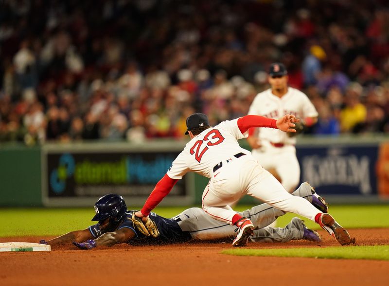
[[(308, 241), (250, 243), (248, 248), (338, 246), (327, 233), (320, 244)], [(389, 229), (351, 229), (356, 245), (388, 245)], [(47, 237), (44, 237), (47, 239)], [(37, 242), (42, 237), (2, 237), (0, 242)], [(353, 246), (346, 246), (353, 251)], [(302, 285), (387, 286), (389, 261), (242, 257), (220, 254), (230, 243), (188, 242), (51, 252), (0, 253), (0, 285)]]

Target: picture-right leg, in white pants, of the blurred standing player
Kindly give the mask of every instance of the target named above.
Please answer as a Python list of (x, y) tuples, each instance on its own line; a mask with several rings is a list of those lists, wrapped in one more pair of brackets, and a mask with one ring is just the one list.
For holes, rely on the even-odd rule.
[(286, 191), (292, 193), (300, 181), (300, 164), (293, 146), (282, 148), (282, 153), (275, 160), (275, 170), (281, 178), (281, 184)]

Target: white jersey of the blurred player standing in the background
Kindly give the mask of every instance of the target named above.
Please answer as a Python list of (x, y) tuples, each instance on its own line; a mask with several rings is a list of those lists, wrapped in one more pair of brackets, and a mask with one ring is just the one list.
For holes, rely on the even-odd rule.
[[(288, 87), (287, 93), (281, 98), (273, 95), (271, 89), (259, 93), (251, 103), (248, 114), (276, 119), (285, 114), (294, 114), (300, 119), (318, 116), (308, 96), (291, 87)], [(289, 138), (286, 132), (278, 129), (263, 128), (258, 136), (261, 140), (273, 143), (296, 144), (296, 137)]]

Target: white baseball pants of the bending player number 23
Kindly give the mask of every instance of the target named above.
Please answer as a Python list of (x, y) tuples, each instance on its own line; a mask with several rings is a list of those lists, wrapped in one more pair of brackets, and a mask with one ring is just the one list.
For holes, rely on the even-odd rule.
[(294, 212), (315, 221), (320, 212), (301, 197), (288, 193), (274, 176), (267, 172), (251, 155), (223, 161), (216, 170), (202, 196), (202, 208), (214, 219), (232, 224), (236, 214), (230, 205), (248, 194), (277, 209)]

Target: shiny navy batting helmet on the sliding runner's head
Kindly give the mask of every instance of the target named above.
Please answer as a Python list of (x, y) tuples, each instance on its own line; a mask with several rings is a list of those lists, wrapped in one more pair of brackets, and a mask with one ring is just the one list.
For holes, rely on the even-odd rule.
[(94, 205), (94, 210), (96, 214), (92, 218), (92, 221), (99, 221), (100, 224), (109, 217), (107, 231), (113, 231), (124, 222), (127, 206), (122, 196), (110, 193), (98, 199)]

